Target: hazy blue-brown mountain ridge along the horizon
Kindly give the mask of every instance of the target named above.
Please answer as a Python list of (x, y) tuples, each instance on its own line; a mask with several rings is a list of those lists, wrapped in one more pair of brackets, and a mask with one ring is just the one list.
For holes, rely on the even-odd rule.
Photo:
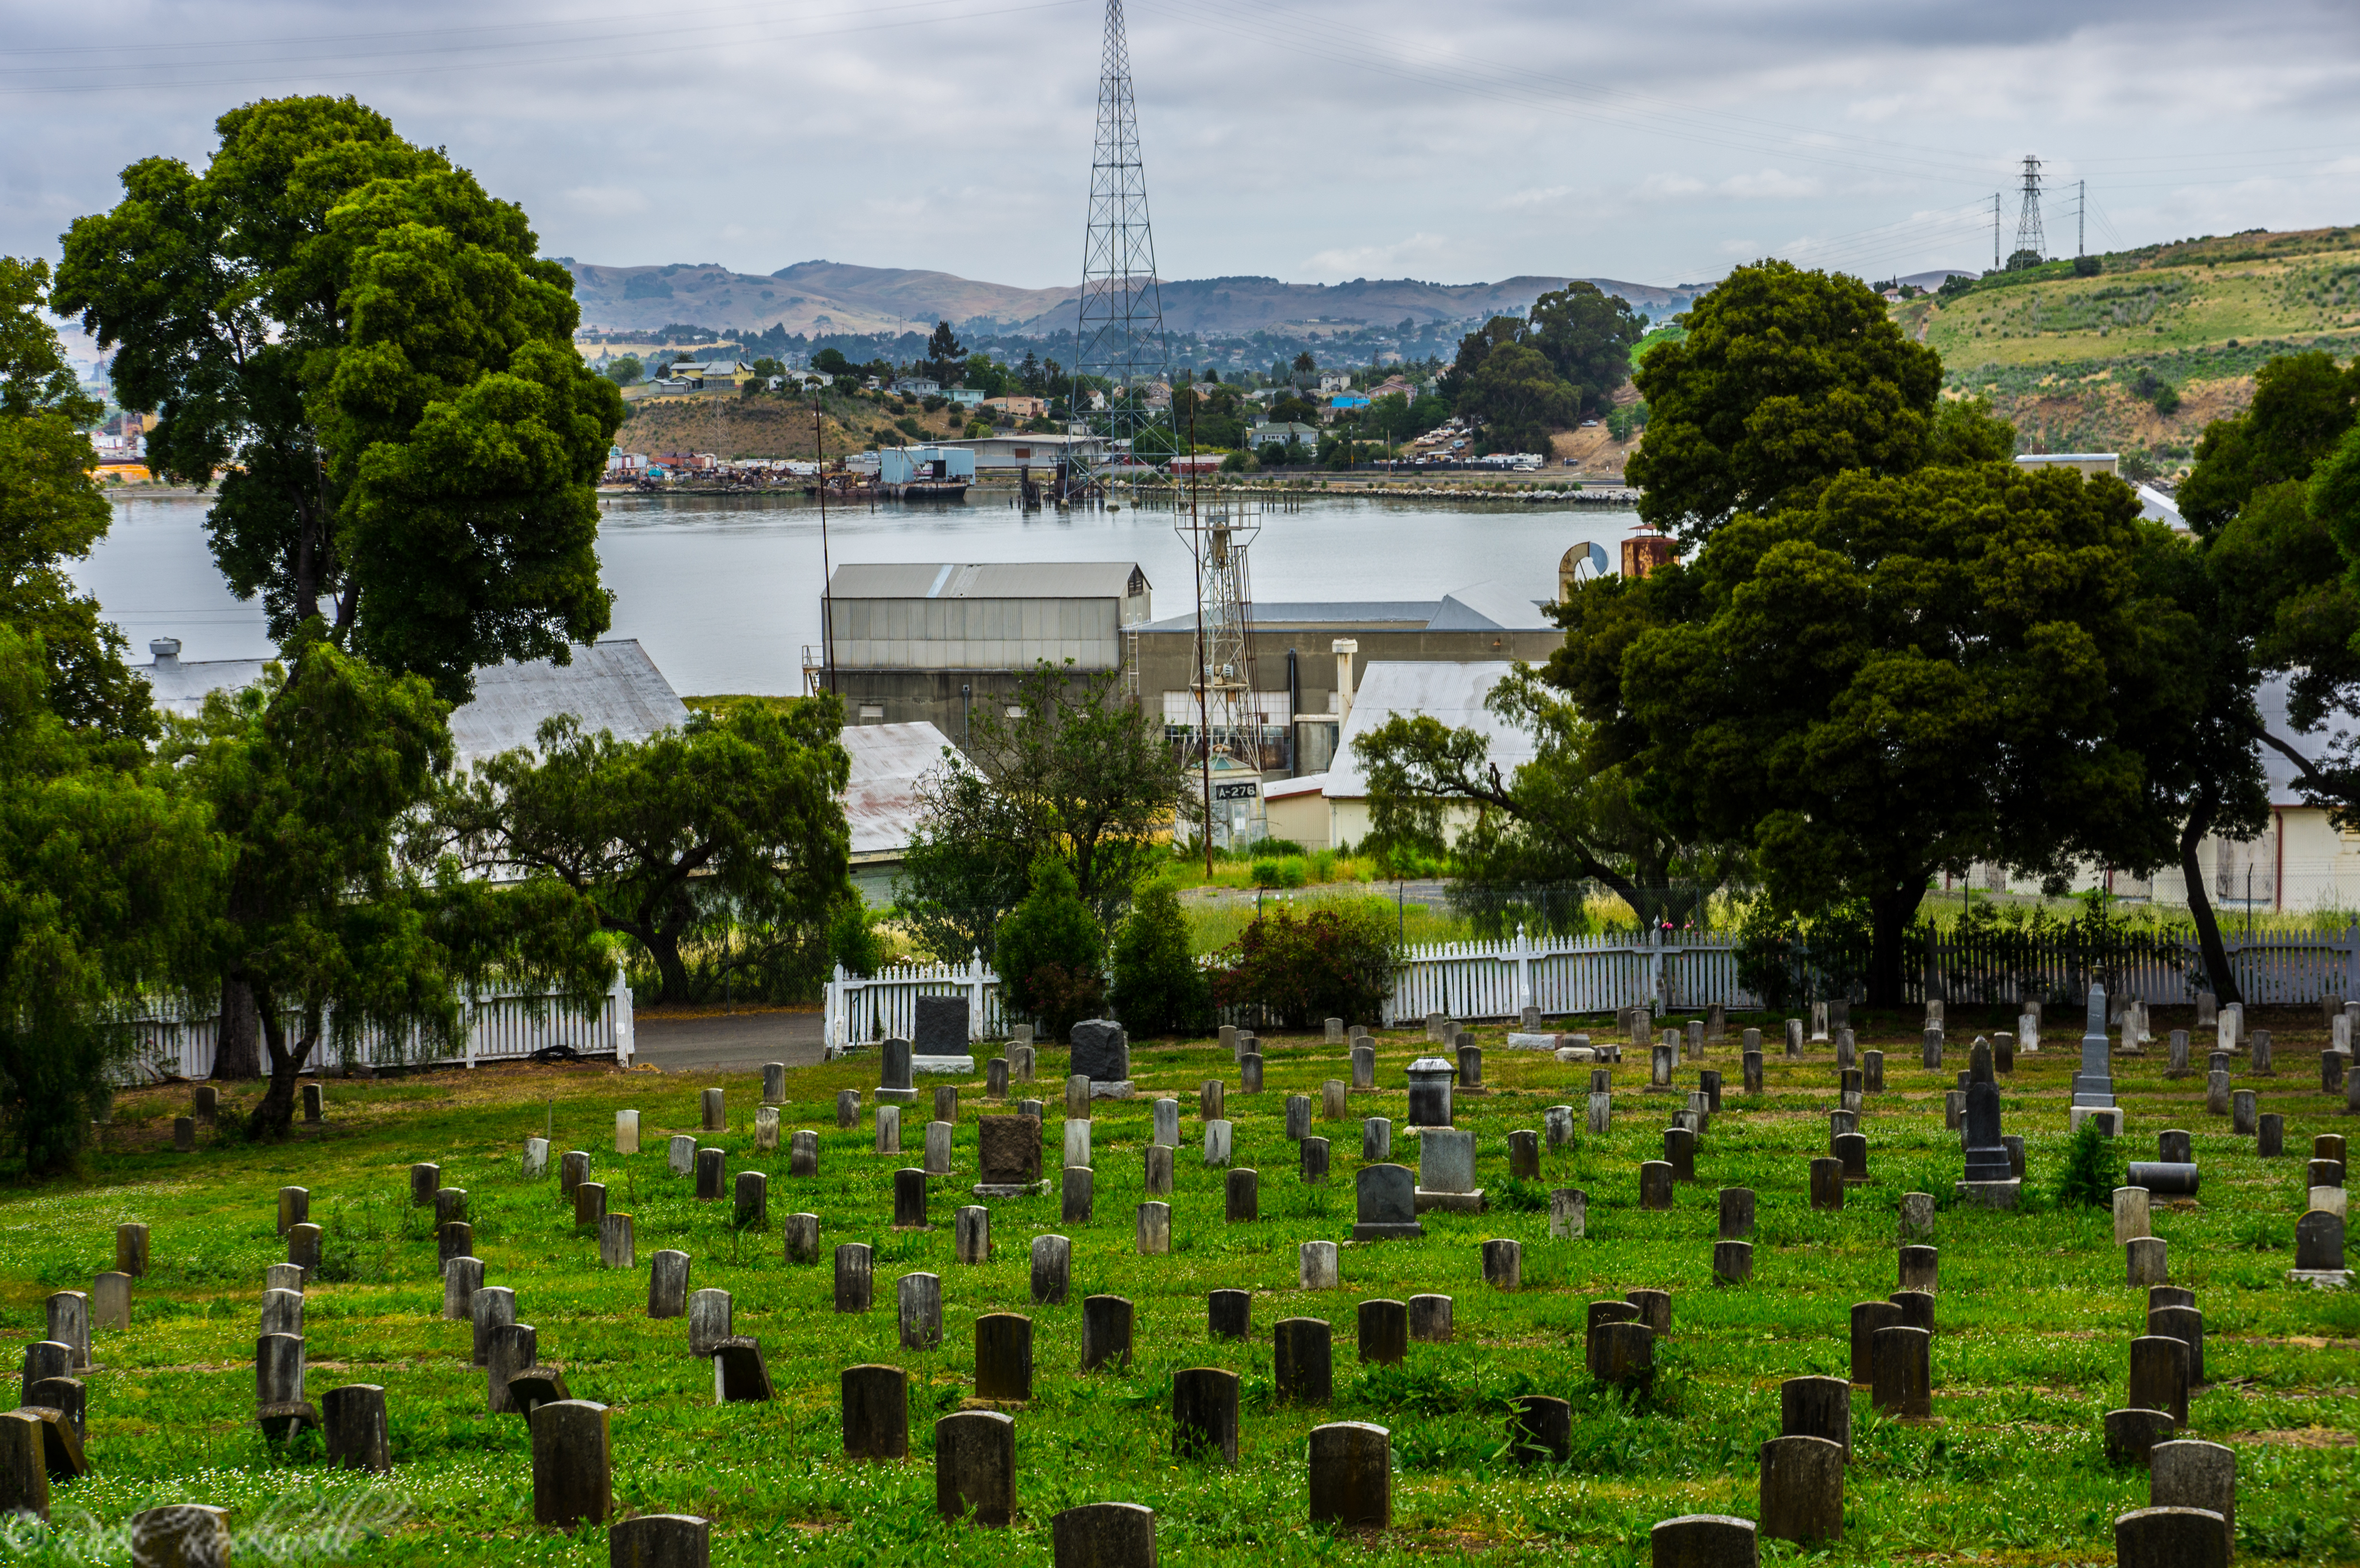
[[(573, 272), (583, 324), (609, 331), (649, 331), (670, 321), (791, 333), (925, 331), (935, 321), (1008, 335), (1048, 335), (1071, 328), (1079, 286), (1017, 288), (913, 267), (795, 262), (767, 276), (729, 272), (717, 262), (663, 267), (604, 267), (557, 257)], [(1425, 283), (1418, 279), (1352, 279), (1350, 283), (1281, 283), (1265, 276), (1166, 279), (1163, 324), (1178, 333), (1234, 335), (1272, 328), (1395, 326), (1463, 321), (1522, 312), (1569, 276), (1522, 274), (1499, 283)], [(1584, 279), (1621, 295), (1647, 314), (1687, 309), (1699, 283), (1628, 283)]]

